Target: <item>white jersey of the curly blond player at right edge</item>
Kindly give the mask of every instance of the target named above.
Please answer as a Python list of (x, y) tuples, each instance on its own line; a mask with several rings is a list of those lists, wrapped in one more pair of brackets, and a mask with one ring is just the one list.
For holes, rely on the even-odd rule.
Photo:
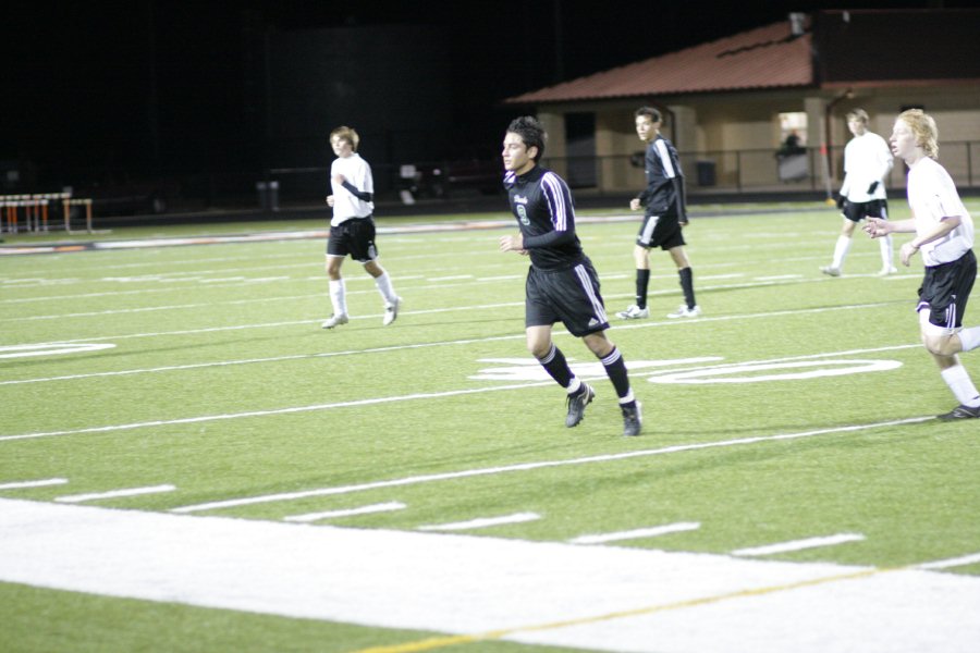
[(956, 185), (946, 169), (928, 157), (919, 159), (908, 171), (908, 206), (916, 219), (916, 234), (921, 236), (943, 218), (959, 217), (959, 226), (939, 241), (919, 248), (928, 267), (957, 260), (973, 247), (973, 220), (963, 206)]

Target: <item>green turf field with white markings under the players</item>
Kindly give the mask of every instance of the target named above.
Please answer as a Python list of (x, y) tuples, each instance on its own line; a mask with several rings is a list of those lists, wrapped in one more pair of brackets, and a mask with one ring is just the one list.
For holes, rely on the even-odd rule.
[[(379, 220), (399, 319), (347, 260), (331, 331), (321, 221), (5, 236), (0, 650), (975, 651), (980, 423), (934, 419), (920, 261), (858, 234), (828, 278), (831, 208), (711, 213), (701, 317), (654, 251), (612, 318), (635, 439), (558, 325), (564, 427), (503, 210)], [(579, 214), (611, 316), (637, 226)]]

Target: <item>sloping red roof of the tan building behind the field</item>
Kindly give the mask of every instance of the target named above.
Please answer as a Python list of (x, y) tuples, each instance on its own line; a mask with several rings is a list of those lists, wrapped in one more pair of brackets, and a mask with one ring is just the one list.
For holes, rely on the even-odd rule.
[(567, 102), (813, 84), (810, 34), (789, 22), (750, 29), (662, 57), (507, 98), (507, 103)]

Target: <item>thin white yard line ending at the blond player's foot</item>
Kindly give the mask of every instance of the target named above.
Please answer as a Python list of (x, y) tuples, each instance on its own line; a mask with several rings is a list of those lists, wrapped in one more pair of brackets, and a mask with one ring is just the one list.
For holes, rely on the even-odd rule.
[(538, 463), (522, 463), (518, 465), (507, 465), (503, 467), (485, 467), (478, 469), (466, 469), (463, 471), (446, 471), (442, 473), (431, 473), (417, 477), (406, 477), (401, 479), (391, 479), (388, 481), (373, 481), (370, 483), (358, 483), (356, 485), (339, 485), (335, 488), (318, 488), (315, 490), (304, 490), (301, 492), (283, 492), (280, 494), (266, 494), (262, 496), (250, 496), (246, 498), (232, 498), (226, 501), (215, 501), (189, 506), (180, 506), (171, 508), (171, 513), (199, 513), (201, 510), (213, 510), (217, 508), (231, 508), (237, 506), (247, 506), (261, 503), (273, 503), (279, 501), (293, 501), (296, 498), (307, 498), (310, 496), (331, 496), (338, 494), (351, 494), (353, 492), (365, 492), (368, 490), (379, 490), (381, 488), (400, 488), (405, 485), (415, 485), (420, 483), (431, 483), (436, 481), (448, 481), (454, 479), (465, 479), (480, 476), (492, 476), (498, 473), (507, 473), (512, 471), (529, 471), (535, 469), (544, 469), (550, 467), (565, 467), (568, 465), (589, 465), (592, 463), (610, 463), (614, 460), (627, 460), (629, 458), (644, 458), (647, 456), (662, 456), (666, 454), (677, 454), (682, 452), (695, 452), (701, 449), (712, 449), (727, 446), (740, 446), (746, 444), (760, 444), (767, 442), (780, 442), (785, 440), (798, 440), (803, 438), (812, 438), (816, 435), (828, 435), (832, 433), (852, 433), (855, 431), (865, 431), (868, 429), (882, 429), (887, 427), (914, 424), (935, 419), (929, 417), (912, 417), (908, 419), (898, 419), (885, 422), (877, 422), (871, 424), (855, 424), (849, 427), (836, 427), (833, 429), (820, 429), (816, 431), (801, 431), (799, 433), (781, 433), (777, 435), (759, 435), (756, 438), (739, 438), (737, 440), (723, 440), (720, 442), (703, 442), (699, 444), (679, 444), (675, 446), (666, 446), (657, 449), (640, 449), (635, 452), (623, 452), (618, 454), (603, 454), (601, 456), (588, 456), (585, 458), (571, 458), (566, 460), (540, 460)]

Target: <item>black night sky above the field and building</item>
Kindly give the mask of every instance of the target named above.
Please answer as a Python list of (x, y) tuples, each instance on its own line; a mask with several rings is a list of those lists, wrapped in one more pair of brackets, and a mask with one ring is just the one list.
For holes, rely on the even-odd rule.
[(842, 3), (779, 0), (746, 9), (700, 0), (16, 2), (0, 27), (0, 160), (33, 161), (48, 171), (241, 167), (243, 143), (261, 137), (243, 119), (248, 20), (278, 30), (439, 26), (453, 60), (454, 138), (485, 139), (495, 138), (514, 112), (499, 106), (505, 97), (821, 7)]

